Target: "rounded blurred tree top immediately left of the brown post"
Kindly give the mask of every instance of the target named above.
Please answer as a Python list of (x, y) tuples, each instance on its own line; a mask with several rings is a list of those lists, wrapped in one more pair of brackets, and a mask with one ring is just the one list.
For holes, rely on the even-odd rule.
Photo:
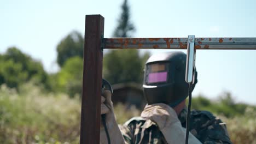
[(83, 58), (83, 51), (84, 38), (79, 32), (73, 31), (57, 45), (57, 63), (62, 67), (68, 58), (73, 56)]

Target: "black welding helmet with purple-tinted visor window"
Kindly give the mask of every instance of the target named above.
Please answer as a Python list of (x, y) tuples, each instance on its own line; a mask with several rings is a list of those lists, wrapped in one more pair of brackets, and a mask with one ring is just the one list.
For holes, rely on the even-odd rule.
[[(143, 90), (148, 104), (164, 103), (175, 107), (188, 97), (185, 82), (187, 55), (183, 52), (158, 53), (149, 57), (144, 69)], [(193, 91), (197, 82), (195, 70)]]

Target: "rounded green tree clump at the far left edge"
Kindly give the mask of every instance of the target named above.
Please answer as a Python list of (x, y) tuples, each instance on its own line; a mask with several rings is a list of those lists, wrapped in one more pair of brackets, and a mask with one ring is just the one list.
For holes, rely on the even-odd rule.
[(0, 85), (18, 88), (21, 83), (33, 81), (50, 89), (48, 74), (41, 62), (32, 59), (16, 47), (10, 47), (0, 58)]

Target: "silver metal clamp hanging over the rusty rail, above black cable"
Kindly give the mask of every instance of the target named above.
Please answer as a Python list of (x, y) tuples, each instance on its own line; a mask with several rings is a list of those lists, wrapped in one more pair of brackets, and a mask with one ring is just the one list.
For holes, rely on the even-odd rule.
[(187, 45), (187, 63), (186, 63), (186, 75), (185, 81), (187, 83), (194, 83), (194, 72), (195, 72), (195, 35), (188, 36)]

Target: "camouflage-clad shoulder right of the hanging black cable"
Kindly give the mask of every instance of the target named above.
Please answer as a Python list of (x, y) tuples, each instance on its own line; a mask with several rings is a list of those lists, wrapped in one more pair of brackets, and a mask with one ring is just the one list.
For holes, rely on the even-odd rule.
[(203, 143), (231, 143), (226, 123), (210, 111), (191, 111), (192, 128), (196, 131), (196, 137)]

